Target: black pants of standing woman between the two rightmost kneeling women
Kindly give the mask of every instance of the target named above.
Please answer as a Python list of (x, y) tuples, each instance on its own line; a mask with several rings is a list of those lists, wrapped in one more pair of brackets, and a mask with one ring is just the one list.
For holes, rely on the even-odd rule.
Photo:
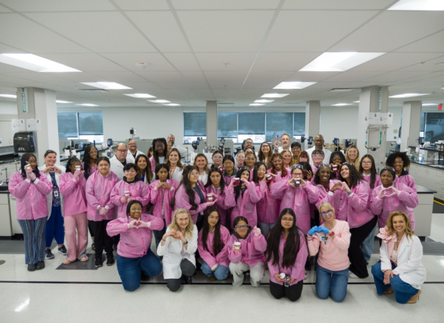
[(366, 259), (361, 250), (361, 245), (366, 240), (370, 232), (375, 228), (377, 216), (373, 219), (361, 225), (361, 227), (355, 227), (350, 229), (350, 246), (348, 247), (348, 259), (350, 259), (350, 272), (357, 275), (359, 278), (368, 277), (368, 270), (366, 265)]

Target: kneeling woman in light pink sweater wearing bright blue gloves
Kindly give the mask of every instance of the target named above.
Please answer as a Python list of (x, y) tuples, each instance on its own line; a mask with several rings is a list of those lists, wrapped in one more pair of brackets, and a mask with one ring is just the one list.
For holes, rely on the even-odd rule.
[[(319, 251), (316, 294), (322, 299), (332, 295), (336, 302), (342, 302), (347, 296), (350, 229), (346, 221), (336, 220), (328, 202), (319, 205), (319, 214), (324, 220), (323, 227), (313, 227), (307, 234), (310, 256), (316, 256)], [(322, 232), (320, 228), (326, 230)]]

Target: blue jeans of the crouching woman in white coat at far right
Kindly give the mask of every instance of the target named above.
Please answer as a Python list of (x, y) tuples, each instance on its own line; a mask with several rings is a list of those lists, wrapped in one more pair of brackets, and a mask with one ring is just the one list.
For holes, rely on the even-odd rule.
[[(391, 269), (395, 269), (395, 264), (391, 264)], [(387, 285), (384, 283), (384, 272), (381, 270), (381, 263), (375, 263), (372, 266), (373, 279), (375, 279), (376, 292), (378, 295), (382, 295), (386, 289), (391, 286), (393, 292), (395, 292), (396, 302), (399, 304), (406, 304), (409, 302), (410, 297), (416, 295), (418, 290), (413, 288), (409, 283), (402, 281), (398, 274), (393, 275), (390, 279), (390, 283)]]

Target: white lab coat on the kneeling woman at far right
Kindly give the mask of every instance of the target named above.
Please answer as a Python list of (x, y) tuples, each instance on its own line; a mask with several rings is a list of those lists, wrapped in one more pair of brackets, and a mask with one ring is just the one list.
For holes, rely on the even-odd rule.
[[(382, 242), (379, 249), (381, 256), (381, 270), (391, 270), (391, 262), (388, 256), (387, 244)], [(405, 283), (409, 283), (413, 288), (421, 289), (422, 283), (425, 281), (425, 267), (421, 263), (422, 259), (422, 245), (417, 236), (413, 239), (407, 239), (404, 236), (398, 252), (398, 259), (396, 263), (398, 267), (393, 271), (400, 274), (400, 279)]]

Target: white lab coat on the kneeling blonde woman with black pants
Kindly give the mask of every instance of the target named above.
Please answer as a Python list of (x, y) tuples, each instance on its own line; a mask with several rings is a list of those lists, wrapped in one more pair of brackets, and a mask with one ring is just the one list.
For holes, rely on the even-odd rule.
[[(167, 228), (169, 232), (169, 227)], [(193, 236), (188, 240), (188, 247), (182, 253), (182, 241), (169, 236), (165, 239), (165, 245), (162, 243), (157, 247), (157, 256), (164, 256), (162, 260), (164, 279), (178, 279), (182, 277), (182, 270), (180, 270), (180, 263), (182, 259), (187, 259), (196, 267), (196, 257), (194, 252), (197, 250), (197, 227), (194, 225)]]

